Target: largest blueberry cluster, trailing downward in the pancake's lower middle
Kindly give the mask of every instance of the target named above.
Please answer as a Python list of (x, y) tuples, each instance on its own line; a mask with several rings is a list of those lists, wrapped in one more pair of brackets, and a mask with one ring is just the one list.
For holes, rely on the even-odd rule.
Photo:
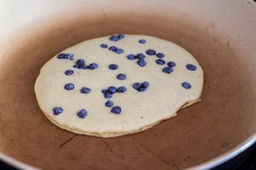
[[(112, 97), (112, 95), (115, 94), (116, 92), (124, 93), (125, 91), (126, 91), (125, 86), (120, 86), (119, 88), (116, 88), (114, 86), (110, 86), (110, 87), (108, 87), (108, 89), (102, 89), (102, 93), (104, 94), (104, 97), (106, 99), (110, 99)], [(112, 107), (113, 102), (108, 100), (107, 102), (105, 102), (105, 106)], [(114, 106), (111, 109), (111, 112), (114, 113), (114, 114), (119, 114), (119, 113), (121, 113), (121, 108), (119, 106)]]

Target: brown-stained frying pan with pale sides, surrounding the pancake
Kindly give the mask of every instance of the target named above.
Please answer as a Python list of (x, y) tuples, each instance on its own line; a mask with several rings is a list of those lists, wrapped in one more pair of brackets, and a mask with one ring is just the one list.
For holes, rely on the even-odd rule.
[[(0, 2), (0, 159), (22, 169), (207, 169), (256, 141), (252, 0)], [(78, 42), (145, 34), (189, 51), (202, 101), (140, 133), (102, 139), (53, 125), (34, 94), (40, 68)]]

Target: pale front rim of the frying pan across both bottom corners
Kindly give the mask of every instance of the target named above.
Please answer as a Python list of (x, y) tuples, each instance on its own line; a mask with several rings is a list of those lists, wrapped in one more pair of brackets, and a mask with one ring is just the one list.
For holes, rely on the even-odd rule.
[[(247, 138), (244, 142), (238, 144), (236, 147), (234, 147), (231, 150), (228, 150), (225, 153), (222, 153), (221, 155), (210, 159), (209, 161), (203, 162), (201, 164), (195, 165), (193, 167), (186, 168), (184, 170), (207, 170), (214, 168), (232, 158), (242, 153), (244, 150), (252, 146), (254, 143), (256, 143), (256, 133), (253, 133), (252, 136)], [(31, 166), (29, 164), (23, 163), (22, 161), (18, 161), (17, 159), (14, 159), (10, 156), (7, 156), (3, 152), (0, 152), (0, 160), (11, 165), (12, 167), (23, 169), (23, 170), (42, 170), (37, 167)]]

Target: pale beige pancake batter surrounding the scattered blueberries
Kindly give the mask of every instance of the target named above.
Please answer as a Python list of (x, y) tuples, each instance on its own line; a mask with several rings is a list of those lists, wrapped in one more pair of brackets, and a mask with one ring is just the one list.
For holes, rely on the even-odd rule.
[[(145, 35), (126, 35), (121, 40), (111, 41), (111, 36), (81, 42), (61, 53), (73, 54), (73, 59), (58, 59), (54, 56), (41, 68), (35, 82), (35, 94), (44, 114), (55, 125), (74, 133), (93, 136), (113, 137), (135, 133), (156, 125), (161, 120), (176, 116), (183, 106), (200, 101), (203, 88), (203, 70), (196, 59), (180, 46), (156, 37)], [(145, 44), (139, 40), (145, 39)], [(122, 54), (116, 54), (108, 48), (115, 45), (122, 48)], [(167, 66), (157, 65), (155, 55), (147, 55), (146, 50), (154, 49), (163, 53), (165, 62), (173, 61), (176, 66), (170, 74), (162, 69)], [(127, 59), (128, 54), (143, 53), (146, 65), (141, 67), (137, 59)], [(77, 59), (84, 59), (85, 64), (97, 63), (95, 70), (73, 68)], [(111, 70), (110, 64), (117, 64), (118, 69)], [(195, 71), (188, 70), (187, 64), (196, 66)], [(73, 70), (72, 75), (64, 74)], [(117, 74), (126, 74), (126, 79), (119, 80)], [(138, 92), (133, 88), (135, 82), (147, 81), (146, 91)], [(189, 82), (191, 88), (183, 88), (183, 82)], [(67, 91), (64, 85), (73, 83), (75, 88)], [(109, 86), (125, 86), (124, 93), (115, 93), (110, 99), (119, 106), (120, 114), (111, 113), (105, 106), (102, 89)], [(81, 94), (82, 87), (90, 88), (89, 94)], [(54, 115), (52, 108), (63, 108), (63, 112)], [(82, 119), (77, 113), (84, 109), (87, 116)]]

